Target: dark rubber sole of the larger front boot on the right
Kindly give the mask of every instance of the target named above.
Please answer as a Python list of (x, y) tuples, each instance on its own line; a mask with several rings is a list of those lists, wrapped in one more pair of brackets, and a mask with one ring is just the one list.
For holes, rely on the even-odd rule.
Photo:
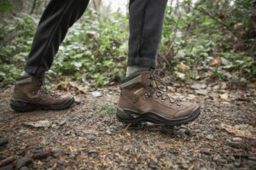
[(184, 117), (182, 119), (166, 119), (165, 117), (159, 116), (155, 113), (137, 113), (136, 111), (131, 110), (123, 110), (119, 107), (117, 108), (117, 119), (120, 122), (125, 123), (140, 123), (140, 122), (153, 122), (155, 124), (163, 124), (168, 126), (179, 126), (183, 124), (187, 124), (189, 122), (193, 122), (200, 115), (200, 107), (197, 107), (190, 116)]

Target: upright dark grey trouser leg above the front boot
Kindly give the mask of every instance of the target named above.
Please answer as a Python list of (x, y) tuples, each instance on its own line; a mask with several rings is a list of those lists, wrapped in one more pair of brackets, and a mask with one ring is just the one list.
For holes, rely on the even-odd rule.
[(167, 0), (130, 0), (128, 65), (155, 68)]

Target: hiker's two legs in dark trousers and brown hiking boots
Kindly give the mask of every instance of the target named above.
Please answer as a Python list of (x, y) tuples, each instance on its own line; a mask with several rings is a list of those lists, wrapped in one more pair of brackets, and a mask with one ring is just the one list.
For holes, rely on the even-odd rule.
[[(26, 62), (27, 74), (16, 80), (10, 103), (15, 111), (61, 110), (73, 104), (71, 95), (42, 90), (42, 79), (52, 65), (68, 28), (84, 14), (88, 3), (89, 0), (50, 1), (39, 22)], [(117, 118), (121, 122), (180, 125), (195, 120), (200, 113), (199, 105), (168, 96), (166, 84), (160, 80), (162, 74), (154, 71), (166, 3), (167, 0), (130, 0), (128, 74), (120, 85), (117, 106)], [(162, 87), (166, 90), (163, 91)]]

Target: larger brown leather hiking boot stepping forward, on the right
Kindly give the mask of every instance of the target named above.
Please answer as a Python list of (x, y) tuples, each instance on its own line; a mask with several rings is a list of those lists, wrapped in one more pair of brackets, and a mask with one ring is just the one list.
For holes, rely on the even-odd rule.
[(166, 83), (160, 79), (163, 77), (161, 71), (143, 71), (126, 77), (120, 85), (118, 120), (171, 126), (194, 121), (200, 114), (199, 105), (168, 96)]

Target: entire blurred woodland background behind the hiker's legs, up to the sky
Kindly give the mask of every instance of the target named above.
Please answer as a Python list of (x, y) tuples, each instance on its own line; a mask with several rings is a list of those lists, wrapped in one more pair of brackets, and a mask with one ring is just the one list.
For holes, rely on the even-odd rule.
[[(48, 3), (0, 0), (1, 87), (20, 76)], [(69, 30), (47, 80), (101, 87), (124, 78), (128, 3), (91, 0)], [(255, 8), (256, 0), (169, 0), (159, 52), (159, 68), (166, 71), (168, 81), (226, 82), (236, 88), (255, 85)]]

